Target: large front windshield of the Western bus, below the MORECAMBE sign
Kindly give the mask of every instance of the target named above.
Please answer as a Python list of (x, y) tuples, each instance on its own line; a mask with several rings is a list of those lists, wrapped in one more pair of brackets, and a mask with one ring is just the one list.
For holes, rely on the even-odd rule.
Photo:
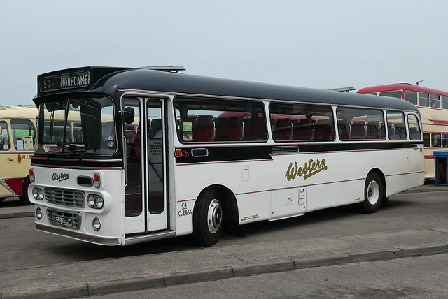
[(62, 96), (38, 105), (36, 154), (116, 152), (113, 101), (106, 96)]

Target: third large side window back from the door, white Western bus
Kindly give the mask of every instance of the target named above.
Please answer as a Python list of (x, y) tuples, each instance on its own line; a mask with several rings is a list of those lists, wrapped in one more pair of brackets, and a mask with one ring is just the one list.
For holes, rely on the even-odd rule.
[(386, 139), (381, 110), (337, 108), (337, 129), (341, 140)]

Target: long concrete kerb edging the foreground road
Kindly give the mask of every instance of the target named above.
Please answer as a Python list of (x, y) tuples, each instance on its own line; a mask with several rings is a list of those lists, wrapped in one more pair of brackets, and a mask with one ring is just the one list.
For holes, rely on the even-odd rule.
[(407, 249), (385, 249), (378, 251), (360, 251), (349, 254), (335, 254), (297, 260), (273, 261), (270, 263), (249, 264), (235, 267), (197, 270), (193, 272), (172, 272), (166, 275), (151, 275), (131, 279), (116, 279), (102, 283), (78, 283), (66, 286), (52, 286), (52, 289), (36, 290), (33, 293), (0, 294), (0, 299), (16, 298), (73, 298), (92, 296), (120, 291), (151, 289), (155, 287), (174, 286), (206, 282), (209, 280), (228, 279), (248, 275), (261, 275), (272, 272), (283, 272), (295, 269), (315, 268), (328, 265), (342, 265), (367, 261), (381, 261), (394, 258), (426, 256), (448, 253), (448, 245), (413, 247)]

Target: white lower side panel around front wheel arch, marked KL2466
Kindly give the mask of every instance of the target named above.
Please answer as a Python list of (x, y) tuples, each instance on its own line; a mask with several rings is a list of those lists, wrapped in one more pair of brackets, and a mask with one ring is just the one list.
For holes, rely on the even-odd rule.
[(207, 187), (218, 185), (235, 195), (241, 224), (252, 219), (269, 219), (271, 174), (268, 164), (269, 161), (231, 161), (176, 165), (176, 235), (193, 233), (195, 200)]

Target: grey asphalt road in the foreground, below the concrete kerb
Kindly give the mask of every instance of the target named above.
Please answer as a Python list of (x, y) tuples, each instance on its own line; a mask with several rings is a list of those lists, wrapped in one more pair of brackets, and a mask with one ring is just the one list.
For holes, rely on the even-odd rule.
[(448, 298), (448, 254), (331, 265), (89, 296), (120, 298)]

